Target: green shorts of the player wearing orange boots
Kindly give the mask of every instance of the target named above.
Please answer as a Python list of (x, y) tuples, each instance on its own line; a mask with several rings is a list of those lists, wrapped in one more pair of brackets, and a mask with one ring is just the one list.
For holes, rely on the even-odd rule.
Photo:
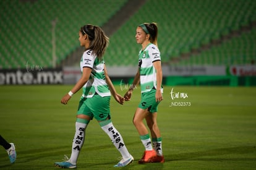
[(156, 90), (152, 89), (151, 91), (142, 93), (142, 99), (140, 100), (139, 108), (148, 109), (150, 113), (157, 112), (157, 106), (160, 101), (156, 102)]

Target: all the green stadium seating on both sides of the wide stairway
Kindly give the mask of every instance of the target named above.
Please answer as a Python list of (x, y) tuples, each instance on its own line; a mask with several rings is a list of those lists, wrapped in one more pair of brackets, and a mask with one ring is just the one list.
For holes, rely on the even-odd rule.
[[(105, 25), (127, 2), (0, 1), (0, 69), (23, 68), (27, 62), (52, 67), (54, 20), (60, 65), (79, 48), (74, 36), (78, 28), (85, 23)], [(135, 29), (143, 22), (157, 22), (163, 64), (252, 64), (255, 11), (254, 0), (148, 0), (110, 35), (105, 60), (109, 66), (137, 65), (140, 45), (135, 43)]]

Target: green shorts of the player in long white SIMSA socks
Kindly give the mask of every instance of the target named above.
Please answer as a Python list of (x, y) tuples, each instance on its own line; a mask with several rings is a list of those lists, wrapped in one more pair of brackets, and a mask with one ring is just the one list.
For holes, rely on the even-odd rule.
[(80, 98), (77, 114), (85, 114), (91, 119), (95, 117), (97, 121), (111, 119), (109, 109), (110, 96), (101, 97), (94, 95), (92, 98)]

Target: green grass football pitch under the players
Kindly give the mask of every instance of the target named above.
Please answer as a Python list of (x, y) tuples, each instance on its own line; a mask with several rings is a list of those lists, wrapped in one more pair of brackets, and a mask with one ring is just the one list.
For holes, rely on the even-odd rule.
[[(0, 87), (0, 134), (16, 146), (9, 163), (0, 148), (0, 169), (57, 169), (55, 161), (70, 156), (80, 93), (60, 103), (70, 85)], [(126, 86), (116, 85), (124, 95)], [(77, 169), (255, 169), (255, 87), (164, 87), (158, 107), (165, 163), (138, 164), (143, 145), (132, 124), (140, 88), (120, 105), (111, 98), (113, 124), (134, 163), (113, 168), (119, 152), (93, 119), (87, 127)]]

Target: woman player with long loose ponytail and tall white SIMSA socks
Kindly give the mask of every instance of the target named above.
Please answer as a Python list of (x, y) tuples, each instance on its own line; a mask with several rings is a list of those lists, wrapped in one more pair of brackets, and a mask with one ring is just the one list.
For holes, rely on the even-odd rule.
[(82, 77), (61, 100), (62, 104), (67, 104), (71, 96), (80, 88), (83, 88), (77, 111), (77, 121), (75, 122), (76, 130), (72, 143), (72, 153), (70, 159), (67, 158), (67, 161), (64, 162), (56, 162), (55, 165), (59, 168), (77, 167), (77, 159), (85, 141), (85, 130), (90, 120), (95, 117), (101, 129), (108, 134), (114, 146), (122, 155), (121, 161), (114, 166), (127, 166), (132, 163), (134, 158), (127, 150), (121, 134), (112, 124), (109, 111), (111, 94), (118, 103), (124, 103), (124, 98), (116, 93), (113, 83), (108, 77), (103, 59), (109, 38), (100, 27), (88, 24), (80, 28), (79, 41), (81, 46), (85, 46), (85, 52), (80, 61)]

